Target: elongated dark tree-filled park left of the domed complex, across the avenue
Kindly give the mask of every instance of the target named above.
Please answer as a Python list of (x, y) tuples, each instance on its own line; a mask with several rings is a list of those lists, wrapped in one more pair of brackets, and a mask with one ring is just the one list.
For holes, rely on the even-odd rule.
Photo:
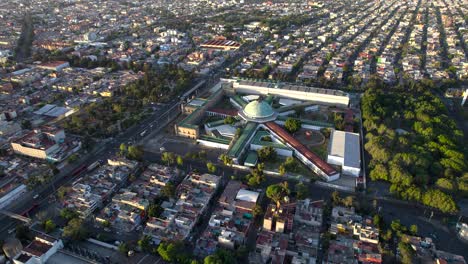
[(193, 79), (191, 72), (174, 65), (157, 70), (146, 65), (138, 70), (144, 72), (142, 78), (67, 117), (63, 122), (67, 132), (96, 138), (113, 136), (144, 120), (150, 103), (171, 100), (188, 89)]

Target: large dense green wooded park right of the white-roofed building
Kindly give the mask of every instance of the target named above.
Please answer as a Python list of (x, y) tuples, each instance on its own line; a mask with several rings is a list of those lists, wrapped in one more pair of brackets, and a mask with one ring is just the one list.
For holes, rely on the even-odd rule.
[(429, 91), (370, 89), (362, 98), (370, 178), (398, 198), (454, 213), (466, 196), (463, 132)]

